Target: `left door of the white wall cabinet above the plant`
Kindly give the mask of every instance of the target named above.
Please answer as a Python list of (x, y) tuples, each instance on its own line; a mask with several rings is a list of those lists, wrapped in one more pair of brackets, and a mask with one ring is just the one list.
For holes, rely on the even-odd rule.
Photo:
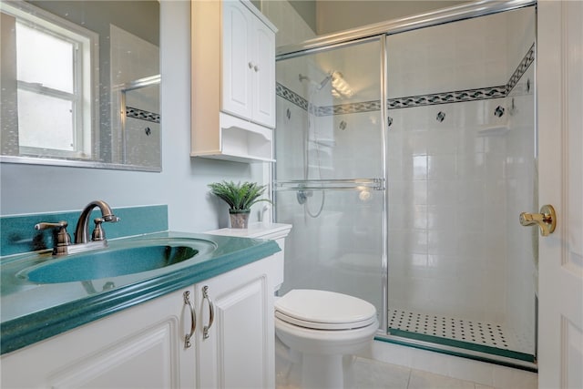
[(240, 118), (252, 118), (251, 57), (253, 15), (239, 1), (223, 2), (221, 109)]

